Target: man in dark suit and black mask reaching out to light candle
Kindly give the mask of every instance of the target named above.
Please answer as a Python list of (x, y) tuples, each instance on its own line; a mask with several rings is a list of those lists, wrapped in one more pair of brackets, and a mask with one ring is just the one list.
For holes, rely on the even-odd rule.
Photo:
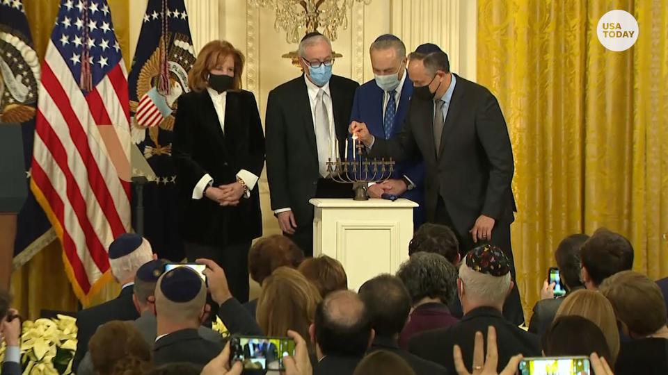
[[(447, 54), (434, 44), (422, 44), (408, 58), (414, 88), (401, 133), (392, 140), (374, 138), (359, 122), (351, 123), (351, 133), (372, 157), (422, 156), (427, 222), (453, 228), (462, 254), (489, 242), (512, 263), (513, 151), (498, 101), (481, 85), (452, 74)], [(524, 322), (517, 290), (504, 315), (515, 324)]]

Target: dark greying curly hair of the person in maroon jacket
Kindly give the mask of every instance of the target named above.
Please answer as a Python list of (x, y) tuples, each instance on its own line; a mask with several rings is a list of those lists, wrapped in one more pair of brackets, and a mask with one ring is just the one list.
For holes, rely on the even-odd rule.
[(437, 253), (414, 253), (401, 264), (397, 277), (406, 285), (413, 305), (425, 297), (450, 304), (457, 292), (457, 269)]

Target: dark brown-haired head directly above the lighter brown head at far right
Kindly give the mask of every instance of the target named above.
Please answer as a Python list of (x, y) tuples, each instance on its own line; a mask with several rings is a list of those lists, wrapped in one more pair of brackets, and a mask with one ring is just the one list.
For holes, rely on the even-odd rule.
[(584, 242), (580, 258), (584, 286), (596, 290), (605, 278), (633, 268), (633, 246), (623, 235), (600, 228)]

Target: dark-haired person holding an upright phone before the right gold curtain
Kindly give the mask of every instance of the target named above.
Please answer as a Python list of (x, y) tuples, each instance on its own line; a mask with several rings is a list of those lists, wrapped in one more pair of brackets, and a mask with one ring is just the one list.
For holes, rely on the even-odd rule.
[[(555, 251), (559, 278), (566, 288), (566, 295), (574, 290), (584, 288), (582, 281), (580, 281), (580, 265), (582, 264), (580, 263), (580, 249), (588, 238), (589, 236), (584, 234), (569, 235), (559, 243), (557, 251)], [(548, 285), (548, 281), (545, 281), (541, 292), (541, 300), (534, 305), (534, 313), (529, 323), (529, 332), (542, 336), (555, 319), (557, 309), (564, 301), (565, 296), (555, 299), (554, 288), (555, 285)]]

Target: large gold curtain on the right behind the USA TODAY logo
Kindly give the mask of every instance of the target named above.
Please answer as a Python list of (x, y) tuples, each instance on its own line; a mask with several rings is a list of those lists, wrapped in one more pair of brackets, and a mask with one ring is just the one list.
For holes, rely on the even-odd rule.
[[(638, 21), (627, 51), (598, 42), (613, 9)], [(498, 97), (514, 149), (525, 311), (572, 233), (618, 231), (634, 269), (668, 276), (668, 0), (478, 0), (477, 24), (477, 81)]]

